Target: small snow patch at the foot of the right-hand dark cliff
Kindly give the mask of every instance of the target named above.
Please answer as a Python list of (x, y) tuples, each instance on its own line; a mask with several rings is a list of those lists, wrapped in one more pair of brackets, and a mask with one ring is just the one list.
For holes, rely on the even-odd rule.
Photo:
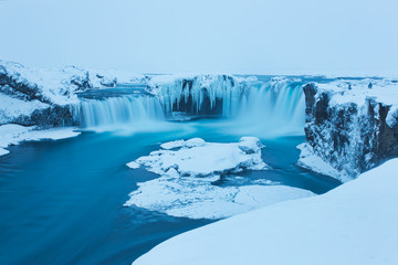
[(300, 159), (297, 161), (298, 167), (312, 170), (316, 173), (329, 176), (342, 182), (353, 180), (348, 173), (345, 171), (338, 171), (328, 162), (324, 161), (321, 157), (315, 155), (313, 148), (307, 142), (298, 145), (297, 149), (301, 150)]

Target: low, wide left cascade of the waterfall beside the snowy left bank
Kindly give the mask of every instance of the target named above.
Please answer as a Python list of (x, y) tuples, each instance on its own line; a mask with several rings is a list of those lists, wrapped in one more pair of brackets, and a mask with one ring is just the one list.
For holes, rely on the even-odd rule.
[(164, 113), (155, 97), (125, 95), (102, 100), (85, 99), (73, 109), (83, 127), (101, 127), (163, 119)]

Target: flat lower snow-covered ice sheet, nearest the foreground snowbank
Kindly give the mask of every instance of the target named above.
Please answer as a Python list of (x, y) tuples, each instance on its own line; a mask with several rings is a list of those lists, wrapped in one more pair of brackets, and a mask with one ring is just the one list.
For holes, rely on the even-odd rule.
[[(171, 171), (175, 171), (171, 169)], [(272, 203), (311, 197), (313, 193), (286, 186), (250, 184), (218, 187), (219, 177), (161, 177), (138, 183), (126, 206), (138, 206), (177, 218), (222, 219)], [(253, 181), (254, 182), (254, 181)]]

